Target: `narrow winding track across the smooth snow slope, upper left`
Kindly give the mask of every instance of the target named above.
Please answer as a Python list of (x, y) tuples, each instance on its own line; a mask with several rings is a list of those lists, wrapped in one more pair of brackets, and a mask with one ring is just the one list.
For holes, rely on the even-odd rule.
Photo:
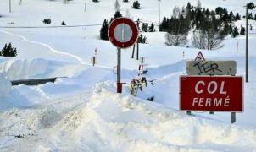
[(8, 31), (5, 31), (5, 30), (0, 30), (0, 32), (2, 32), (3, 34), (6, 34), (6, 35), (13, 35), (13, 36), (16, 36), (16, 37), (19, 37), (21, 38), (22, 40), (26, 41), (26, 42), (29, 42), (29, 43), (33, 43), (33, 44), (37, 44), (37, 45), (41, 45), (41, 46), (45, 46), (47, 47), (50, 51), (54, 52), (54, 53), (58, 53), (58, 54), (62, 54), (62, 55), (65, 55), (65, 56), (69, 56), (69, 57), (72, 57), (72, 58), (75, 58), (75, 60), (77, 60), (78, 62), (81, 62), (81, 64), (86, 64), (86, 65), (89, 65), (87, 64), (86, 62), (83, 62), (81, 57), (78, 57), (78, 56), (75, 56), (73, 54), (70, 54), (70, 53), (67, 53), (67, 52), (61, 52), (61, 51), (58, 51), (58, 50), (55, 50), (53, 49), (52, 46), (49, 46), (45, 43), (42, 43), (40, 41), (31, 41), (31, 40), (28, 40), (25, 36), (23, 35), (16, 35), (14, 33), (11, 33), (11, 32), (8, 32)]

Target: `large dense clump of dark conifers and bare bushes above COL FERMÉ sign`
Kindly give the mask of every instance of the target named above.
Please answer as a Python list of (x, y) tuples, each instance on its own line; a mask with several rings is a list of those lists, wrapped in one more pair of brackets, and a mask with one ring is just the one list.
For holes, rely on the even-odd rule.
[(191, 3), (187, 3), (186, 8), (175, 7), (170, 18), (164, 17), (159, 30), (167, 32), (166, 45), (186, 45), (187, 35), (192, 31), (192, 46), (213, 50), (223, 46), (226, 35), (232, 34), (234, 30), (237, 32), (233, 23), (240, 19), (240, 14), (228, 12), (226, 8), (202, 8), (198, 1), (196, 7)]

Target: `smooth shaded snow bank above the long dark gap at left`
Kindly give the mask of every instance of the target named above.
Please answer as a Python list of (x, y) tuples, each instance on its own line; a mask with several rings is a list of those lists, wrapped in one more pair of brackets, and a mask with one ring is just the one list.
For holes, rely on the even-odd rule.
[(70, 77), (86, 68), (79, 64), (51, 61), (42, 58), (10, 59), (0, 62), (0, 72), (8, 79), (36, 79), (50, 77)]

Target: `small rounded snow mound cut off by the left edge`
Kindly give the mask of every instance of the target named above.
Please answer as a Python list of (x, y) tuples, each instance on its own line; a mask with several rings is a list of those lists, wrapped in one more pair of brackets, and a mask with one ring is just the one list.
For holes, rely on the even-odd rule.
[(0, 73), (0, 101), (1, 98), (9, 95), (9, 92), (12, 89), (12, 84), (8, 79), (3, 76), (3, 73)]

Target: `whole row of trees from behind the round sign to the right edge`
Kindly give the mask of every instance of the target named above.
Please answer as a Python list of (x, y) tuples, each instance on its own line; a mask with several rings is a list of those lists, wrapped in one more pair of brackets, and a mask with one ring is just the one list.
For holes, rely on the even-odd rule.
[[(102, 28), (100, 30), (100, 38), (102, 40), (109, 40), (108, 28), (111, 21), (115, 18), (122, 17), (120, 14), (120, 5), (116, 0), (114, 4), (116, 12), (114, 18), (110, 21), (104, 19)], [(199, 49), (214, 50), (222, 46), (225, 36), (231, 35), (236, 37), (237, 35), (245, 35), (245, 27), (238, 29), (234, 22), (241, 20), (240, 14), (234, 14), (232, 11), (228, 11), (226, 8), (217, 7), (214, 10), (209, 8), (202, 8), (200, 1), (198, 0), (197, 6), (192, 6), (191, 3), (187, 3), (186, 7), (173, 9), (173, 14), (170, 18), (164, 17), (159, 24), (159, 31), (166, 32), (165, 44), (168, 46), (186, 46), (188, 38), (192, 41), (192, 46)], [(248, 15), (248, 19), (255, 19), (256, 14)], [(154, 32), (154, 24), (138, 22), (138, 29), (142, 32)], [(253, 30), (253, 25), (250, 25), (250, 29)], [(191, 35), (191, 36), (188, 36)], [(147, 37), (140, 35), (138, 41), (140, 43), (147, 43)]]

